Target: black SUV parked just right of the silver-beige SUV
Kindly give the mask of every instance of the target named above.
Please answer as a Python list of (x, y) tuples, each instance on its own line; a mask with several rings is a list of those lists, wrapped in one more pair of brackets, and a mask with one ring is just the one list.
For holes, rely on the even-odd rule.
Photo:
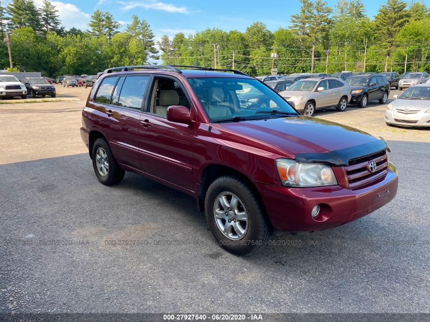
[(370, 101), (379, 100), (385, 104), (390, 94), (390, 83), (380, 74), (363, 74), (349, 77), (346, 82), (351, 87), (351, 103), (366, 107)]

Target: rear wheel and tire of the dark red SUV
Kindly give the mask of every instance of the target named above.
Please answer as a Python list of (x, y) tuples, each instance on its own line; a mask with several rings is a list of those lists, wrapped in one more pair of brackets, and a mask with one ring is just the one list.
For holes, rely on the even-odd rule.
[(113, 157), (109, 144), (105, 139), (99, 138), (94, 142), (91, 155), (94, 172), (102, 184), (110, 186), (118, 184), (123, 180), (125, 171), (121, 169), (117, 160)]

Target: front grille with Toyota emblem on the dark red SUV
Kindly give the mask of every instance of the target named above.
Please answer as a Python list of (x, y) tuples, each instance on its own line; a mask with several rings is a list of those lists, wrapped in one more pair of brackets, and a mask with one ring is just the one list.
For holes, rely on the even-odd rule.
[[(376, 170), (370, 172), (368, 164), (375, 161)], [(350, 188), (356, 188), (383, 177), (388, 172), (387, 153), (385, 151), (350, 160), (345, 167)]]

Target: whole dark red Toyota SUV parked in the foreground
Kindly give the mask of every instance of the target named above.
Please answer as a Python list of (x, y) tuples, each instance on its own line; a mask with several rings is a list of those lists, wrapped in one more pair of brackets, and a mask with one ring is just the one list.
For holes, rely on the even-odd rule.
[[(239, 99), (251, 91), (265, 99)], [(216, 240), (237, 254), (263, 245), (273, 229), (345, 224), (397, 192), (383, 139), (301, 116), (235, 70), (107, 69), (80, 133), (102, 184), (128, 170), (194, 196)]]

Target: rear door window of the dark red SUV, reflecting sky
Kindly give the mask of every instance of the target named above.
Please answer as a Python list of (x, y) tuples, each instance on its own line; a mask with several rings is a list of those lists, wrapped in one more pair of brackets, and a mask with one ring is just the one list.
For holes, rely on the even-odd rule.
[(141, 109), (150, 76), (127, 76), (121, 89), (118, 106)]

